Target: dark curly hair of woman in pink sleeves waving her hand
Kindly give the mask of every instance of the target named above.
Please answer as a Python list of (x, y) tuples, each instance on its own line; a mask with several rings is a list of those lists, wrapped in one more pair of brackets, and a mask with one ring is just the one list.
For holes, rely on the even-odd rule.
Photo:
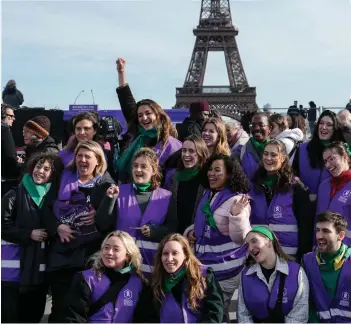
[[(208, 159), (204, 166), (204, 174), (207, 175), (209, 168), (212, 163), (217, 160), (222, 160), (224, 162), (224, 166), (226, 168), (227, 174), (229, 176), (228, 179), (228, 187), (232, 192), (237, 193), (248, 193), (250, 191), (250, 180), (244, 173), (243, 168), (240, 163), (236, 160), (233, 160), (231, 157), (224, 154), (213, 154)], [(208, 177), (206, 176), (206, 180), (204, 181), (204, 187), (209, 188)]]

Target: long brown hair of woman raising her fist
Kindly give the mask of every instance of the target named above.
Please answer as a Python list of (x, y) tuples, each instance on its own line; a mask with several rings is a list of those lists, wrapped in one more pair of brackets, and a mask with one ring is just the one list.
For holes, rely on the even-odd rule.
[(159, 126), (157, 141), (162, 141), (162, 147), (164, 147), (164, 145), (166, 144), (169, 136), (177, 137), (177, 131), (173, 126), (168, 115), (162, 109), (162, 107), (151, 99), (143, 99), (136, 103), (135, 109), (133, 111), (132, 119), (128, 124), (128, 130), (132, 135), (132, 140), (138, 134), (138, 126), (139, 126), (138, 109), (142, 105), (149, 106), (151, 110), (154, 112), (154, 114), (156, 115), (157, 125)]

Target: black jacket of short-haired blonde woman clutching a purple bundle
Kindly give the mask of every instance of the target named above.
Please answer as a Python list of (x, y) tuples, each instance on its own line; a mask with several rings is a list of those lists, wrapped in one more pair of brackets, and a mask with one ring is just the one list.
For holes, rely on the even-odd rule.
[[(95, 210), (98, 210), (103, 197), (106, 195), (106, 190), (114, 183), (113, 179), (108, 172), (105, 172), (101, 181), (95, 185), (91, 190), (90, 194), (90, 204)], [(47, 206), (47, 210), (53, 210), (53, 204)], [(47, 271), (56, 271), (64, 269), (84, 269), (88, 258), (91, 254), (95, 253), (103, 240), (101, 236), (100, 239), (93, 241), (89, 244), (75, 246), (74, 242), (61, 243), (60, 237), (57, 234), (57, 228), (60, 222), (51, 212), (48, 213), (46, 218), (45, 228), (49, 234), (49, 251), (48, 251), (48, 264)], [(74, 248), (71, 248), (73, 246)]]

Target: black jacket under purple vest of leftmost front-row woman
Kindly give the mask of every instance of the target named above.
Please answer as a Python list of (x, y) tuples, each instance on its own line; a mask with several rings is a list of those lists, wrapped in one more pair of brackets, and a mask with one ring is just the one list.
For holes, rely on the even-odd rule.
[[(128, 283), (130, 273), (121, 274), (112, 269), (105, 269), (104, 274), (110, 279), (112, 284), (117, 286), (109, 299), (115, 303), (119, 292)], [(157, 322), (156, 311), (150, 300), (152, 300), (151, 288), (144, 283), (134, 311), (132, 323)], [(88, 323), (89, 311), (94, 303), (92, 301), (91, 290), (82, 273), (78, 273), (75, 276), (66, 301), (65, 322)], [(145, 307), (145, 305), (149, 305), (150, 307)]]

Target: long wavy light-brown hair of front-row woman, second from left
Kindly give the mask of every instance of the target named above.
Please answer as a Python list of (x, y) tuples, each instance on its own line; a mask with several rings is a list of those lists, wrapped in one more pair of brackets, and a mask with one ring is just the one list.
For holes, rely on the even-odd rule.
[(199, 307), (199, 301), (205, 297), (206, 278), (202, 274), (201, 263), (195, 257), (188, 240), (180, 234), (169, 234), (161, 241), (160, 245), (158, 246), (155, 256), (155, 267), (152, 273), (152, 288), (154, 299), (157, 303), (162, 304), (162, 301), (165, 298), (163, 283), (168, 273), (163, 267), (162, 252), (166, 243), (170, 241), (178, 242), (183, 248), (185, 255), (185, 276), (189, 283), (187, 285), (186, 294), (188, 296), (188, 302), (191, 309), (195, 311)]

